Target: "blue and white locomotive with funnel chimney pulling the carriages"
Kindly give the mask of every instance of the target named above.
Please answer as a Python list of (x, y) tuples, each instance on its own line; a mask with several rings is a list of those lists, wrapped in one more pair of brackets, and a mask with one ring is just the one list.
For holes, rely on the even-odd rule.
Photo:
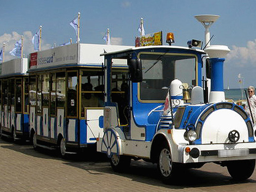
[[(227, 46), (144, 46), (103, 54), (104, 135), (97, 151), (107, 154), (115, 171), (125, 170), (131, 159), (157, 163), (165, 182), (181, 166), (207, 162), (226, 166), (236, 180), (249, 178), (256, 136), (244, 109), (225, 100), (223, 64), (229, 51)], [(209, 93), (204, 56), (209, 57), (204, 67)], [(116, 62), (127, 62), (128, 76), (112, 73)]]

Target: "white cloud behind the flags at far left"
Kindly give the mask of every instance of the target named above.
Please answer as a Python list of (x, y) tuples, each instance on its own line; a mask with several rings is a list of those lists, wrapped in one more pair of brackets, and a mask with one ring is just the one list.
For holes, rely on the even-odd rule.
[[(25, 54), (25, 57), (28, 56), (28, 54), (35, 52), (34, 46), (32, 44), (32, 32), (31, 31), (25, 31), (22, 33), (23, 35), (23, 53)], [(0, 36), (0, 48), (2, 48), (3, 43), (5, 43), (4, 46), (4, 60), (8, 61), (11, 59), (14, 59), (16, 57), (10, 56), (9, 52), (14, 48), (14, 44), (20, 40), (21, 34), (18, 34), (17, 32), (12, 32), (12, 34), (3, 34)], [(44, 41), (42, 40), (42, 50), (50, 48), (50, 44), (44, 44)]]

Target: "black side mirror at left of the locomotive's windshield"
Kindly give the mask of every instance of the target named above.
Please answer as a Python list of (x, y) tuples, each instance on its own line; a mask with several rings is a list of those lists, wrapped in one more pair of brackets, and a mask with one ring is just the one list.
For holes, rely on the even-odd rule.
[(128, 66), (131, 74), (131, 82), (142, 82), (142, 64), (140, 59), (128, 59)]

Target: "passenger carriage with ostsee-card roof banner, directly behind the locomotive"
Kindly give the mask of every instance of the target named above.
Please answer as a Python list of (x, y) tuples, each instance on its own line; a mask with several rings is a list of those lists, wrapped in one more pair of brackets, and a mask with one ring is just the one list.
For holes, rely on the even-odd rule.
[[(30, 137), (34, 148), (58, 147), (61, 155), (95, 144), (103, 136), (103, 52), (128, 46), (71, 44), (30, 54)], [(118, 73), (128, 72), (122, 64)], [(118, 92), (118, 91), (117, 91)]]

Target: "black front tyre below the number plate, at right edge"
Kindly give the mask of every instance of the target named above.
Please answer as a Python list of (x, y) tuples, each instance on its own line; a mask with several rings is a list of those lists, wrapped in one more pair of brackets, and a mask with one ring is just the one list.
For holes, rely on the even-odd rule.
[(242, 181), (252, 176), (255, 168), (255, 159), (227, 162), (229, 174), (234, 180)]

